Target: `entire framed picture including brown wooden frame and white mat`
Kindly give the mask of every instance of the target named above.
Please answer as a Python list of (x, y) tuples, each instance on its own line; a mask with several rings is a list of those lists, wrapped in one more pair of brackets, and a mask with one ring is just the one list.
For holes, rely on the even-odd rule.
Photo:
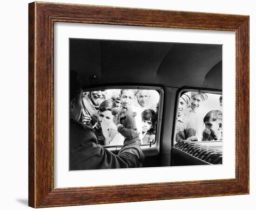
[(249, 16), (33, 2), (28, 71), (29, 206), (249, 194)]

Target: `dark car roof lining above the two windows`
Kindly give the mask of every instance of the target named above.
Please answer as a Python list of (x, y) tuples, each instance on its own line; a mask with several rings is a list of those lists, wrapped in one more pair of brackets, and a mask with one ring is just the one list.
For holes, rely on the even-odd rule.
[(70, 70), (78, 72), (84, 87), (152, 84), (222, 89), (222, 45), (70, 39), (69, 46)]

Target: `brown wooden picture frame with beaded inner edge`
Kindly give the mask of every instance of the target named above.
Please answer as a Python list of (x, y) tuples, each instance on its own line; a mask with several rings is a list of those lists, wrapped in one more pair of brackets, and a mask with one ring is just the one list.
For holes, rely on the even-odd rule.
[[(234, 31), (236, 178), (54, 188), (54, 22)], [(29, 206), (249, 194), (249, 16), (33, 2), (29, 4)]]

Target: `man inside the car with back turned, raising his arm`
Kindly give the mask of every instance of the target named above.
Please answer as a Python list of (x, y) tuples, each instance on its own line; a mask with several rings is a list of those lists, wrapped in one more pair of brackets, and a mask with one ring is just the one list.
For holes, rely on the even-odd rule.
[(70, 72), (69, 88), (69, 170), (142, 167), (144, 154), (141, 151), (138, 132), (126, 129), (121, 125), (120, 114), (118, 114), (115, 125), (118, 132), (125, 137), (123, 147), (118, 155), (97, 145), (93, 128), (79, 121), (83, 92), (76, 72)]

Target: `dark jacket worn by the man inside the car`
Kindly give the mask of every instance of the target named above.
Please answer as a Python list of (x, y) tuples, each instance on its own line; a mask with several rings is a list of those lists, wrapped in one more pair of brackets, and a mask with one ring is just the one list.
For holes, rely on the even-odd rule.
[(122, 125), (118, 127), (118, 131), (125, 136), (125, 140), (118, 155), (115, 155), (97, 145), (92, 127), (70, 119), (69, 170), (142, 167), (144, 154), (140, 147), (139, 133)]

